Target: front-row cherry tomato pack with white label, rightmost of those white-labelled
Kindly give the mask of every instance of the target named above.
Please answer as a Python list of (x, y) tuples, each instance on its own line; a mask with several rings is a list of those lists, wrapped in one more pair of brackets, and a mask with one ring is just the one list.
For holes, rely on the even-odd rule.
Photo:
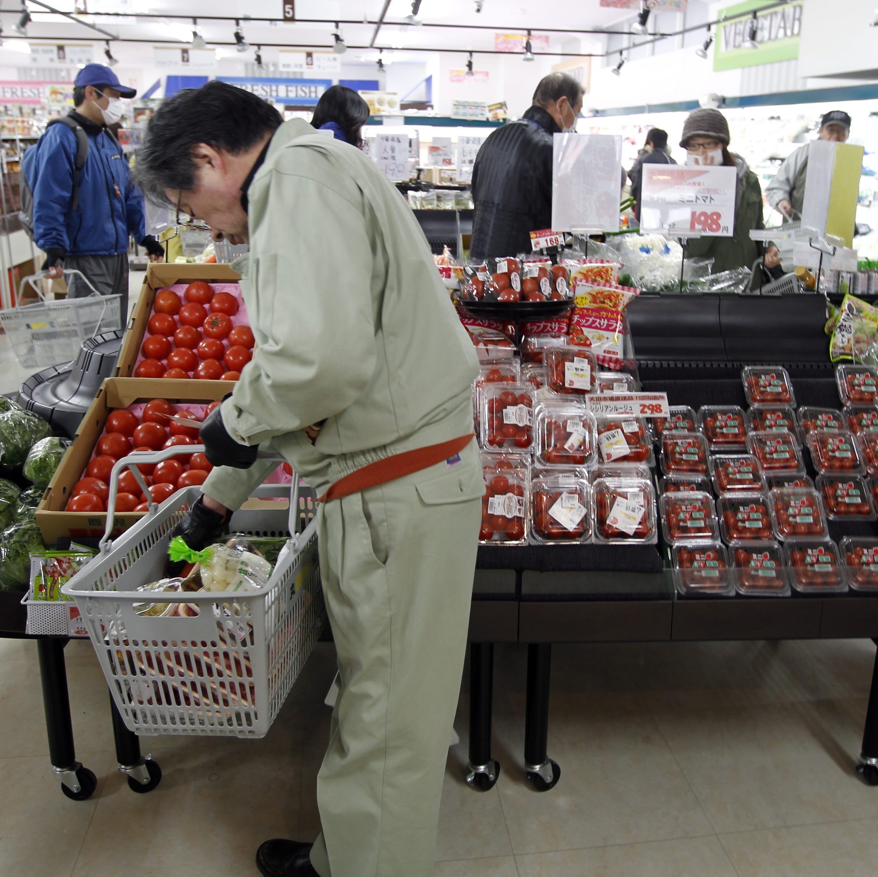
[(648, 544), (659, 541), (656, 497), (645, 478), (597, 478), (592, 487), (594, 537), (600, 543)]

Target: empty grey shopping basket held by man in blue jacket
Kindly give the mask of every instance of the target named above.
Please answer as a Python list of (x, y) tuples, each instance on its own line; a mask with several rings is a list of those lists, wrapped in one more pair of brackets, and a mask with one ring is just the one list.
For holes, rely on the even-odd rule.
[(102, 296), (82, 271), (65, 269), (64, 276), (78, 275), (92, 291), (85, 298), (54, 301), (46, 297), (36, 281), (48, 276), (37, 271), (25, 277), (18, 288), (21, 299), (25, 284), (30, 284), (40, 301), (0, 311), (0, 325), (6, 330), (18, 362), (25, 369), (47, 369), (69, 363), (79, 356), (86, 338), (118, 329), (121, 325), (120, 295)]

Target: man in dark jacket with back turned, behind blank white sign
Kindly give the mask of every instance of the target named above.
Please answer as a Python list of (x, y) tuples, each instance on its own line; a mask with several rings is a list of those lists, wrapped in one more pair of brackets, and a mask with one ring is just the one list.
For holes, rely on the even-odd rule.
[(472, 169), (473, 259), (530, 252), (530, 232), (551, 227), (552, 134), (572, 131), (582, 86), (545, 76), (522, 119), (494, 131)]

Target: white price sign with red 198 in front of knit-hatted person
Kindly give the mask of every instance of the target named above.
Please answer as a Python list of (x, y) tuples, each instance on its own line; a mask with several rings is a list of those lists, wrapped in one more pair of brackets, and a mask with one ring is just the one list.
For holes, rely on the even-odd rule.
[(738, 170), (644, 164), (640, 227), (681, 237), (729, 238), (735, 232)]

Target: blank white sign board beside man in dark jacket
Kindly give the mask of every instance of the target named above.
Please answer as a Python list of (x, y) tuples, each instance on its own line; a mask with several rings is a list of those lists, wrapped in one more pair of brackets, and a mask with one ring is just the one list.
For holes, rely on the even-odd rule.
[(559, 133), (552, 136), (551, 227), (619, 230), (622, 137)]

